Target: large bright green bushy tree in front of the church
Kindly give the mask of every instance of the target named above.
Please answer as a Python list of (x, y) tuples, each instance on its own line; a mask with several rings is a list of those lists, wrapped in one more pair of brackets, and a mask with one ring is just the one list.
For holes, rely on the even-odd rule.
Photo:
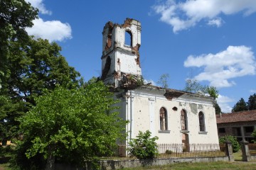
[(55, 160), (82, 166), (85, 160), (111, 154), (117, 139), (125, 137), (126, 122), (113, 106), (117, 102), (102, 81), (92, 80), (80, 89), (46, 91), (20, 119), (24, 137), (16, 164), (39, 169), (44, 166), (35, 163), (39, 159), (47, 162), (46, 167)]

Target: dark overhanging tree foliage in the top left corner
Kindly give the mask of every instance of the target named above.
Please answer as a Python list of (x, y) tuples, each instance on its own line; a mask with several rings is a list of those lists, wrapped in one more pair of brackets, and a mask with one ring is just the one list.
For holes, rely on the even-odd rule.
[(25, 0), (0, 1), (0, 85), (8, 72), (9, 42), (26, 42), (28, 34), (25, 28), (33, 26), (35, 18), (38, 18), (38, 9)]

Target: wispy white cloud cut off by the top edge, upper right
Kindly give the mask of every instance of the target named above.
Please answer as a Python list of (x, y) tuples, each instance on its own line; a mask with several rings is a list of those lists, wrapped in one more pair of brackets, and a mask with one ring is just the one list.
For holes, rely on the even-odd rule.
[[(160, 2), (159, 2), (160, 3)], [(160, 21), (173, 26), (174, 33), (186, 30), (200, 21), (210, 26), (221, 26), (220, 14), (230, 15), (242, 11), (249, 16), (256, 11), (255, 0), (164, 0), (164, 3), (152, 6), (161, 15)]]

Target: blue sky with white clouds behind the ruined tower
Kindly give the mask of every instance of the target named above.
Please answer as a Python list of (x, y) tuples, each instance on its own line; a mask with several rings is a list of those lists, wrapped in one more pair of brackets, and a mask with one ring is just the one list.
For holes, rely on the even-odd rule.
[(26, 1), (40, 11), (28, 33), (58, 42), (85, 80), (100, 77), (105, 23), (134, 18), (142, 23), (144, 79), (169, 74), (178, 90), (188, 78), (215, 86), (225, 113), (256, 93), (255, 0)]

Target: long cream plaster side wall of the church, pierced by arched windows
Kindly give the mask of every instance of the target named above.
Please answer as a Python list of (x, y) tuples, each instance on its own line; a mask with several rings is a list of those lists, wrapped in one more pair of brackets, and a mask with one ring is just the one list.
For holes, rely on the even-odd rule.
[[(181, 110), (184, 109), (188, 117), (188, 137), (190, 144), (217, 144), (218, 133), (215, 120), (215, 110), (212, 103), (207, 103), (198, 98), (193, 101), (183, 101), (173, 98), (168, 101), (164, 96), (152, 94), (150, 91), (134, 90), (132, 93), (132, 137), (136, 137), (139, 130), (145, 132), (151, 130), (152, 136), (158, 136), (159, 144), (181, 144)], [(150, 99), (151, 98), (151, 99)], [(191, 109), (193, 105), (193, 109)], [(168, 114), (168, 131), (161, 133), (159, 125), (159, 110), (166, 108)], [(172, 108), (178, 108), (174, 111)], [(195, 110), (196, 107), (196, 110)], [(149, 109), (154, 109), (152, 112)], [(198, 113), (203, 111), (205, 115), (206, 132), (199, 132)], [(154, 113), (154, 115), (151, 115)], [(154, 121), (154, 123), (152, 123)], [(152, 130), (154, 127), (154, 130)]]

